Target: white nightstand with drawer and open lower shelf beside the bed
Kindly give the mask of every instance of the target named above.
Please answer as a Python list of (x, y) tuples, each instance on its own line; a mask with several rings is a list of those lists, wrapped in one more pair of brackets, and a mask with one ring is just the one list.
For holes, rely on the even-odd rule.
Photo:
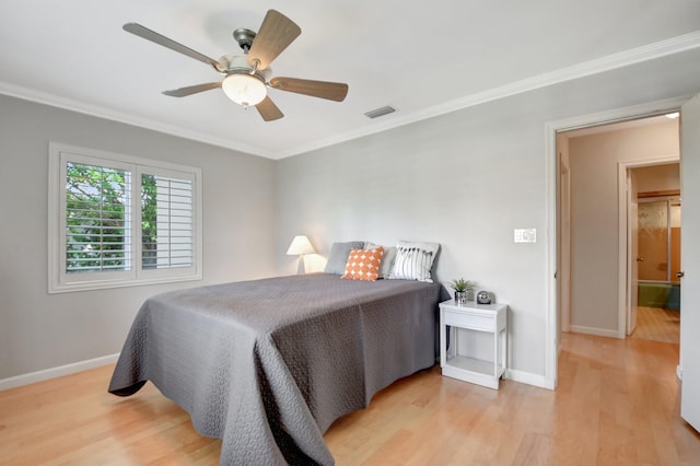
[[(505, 372), (508, 351), (508, 304), (477, 304), (453, 300), (440, 303), (440, 366), (442, 374), (453, 378), (499, 389)], [(447, 346), (450, 327), (450, 348)], [(493, 334), (493, 362), (459, 354), (458, 328)], [(463, 333), (465, 334), (465, 333)]]

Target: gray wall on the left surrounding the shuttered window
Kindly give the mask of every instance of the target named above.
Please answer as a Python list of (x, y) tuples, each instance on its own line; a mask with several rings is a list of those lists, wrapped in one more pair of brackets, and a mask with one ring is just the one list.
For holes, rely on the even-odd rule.
[[(203, 281), (47, 293), (48, 143), (199, 166)], [(0, 95), (0, 380), (117, 353), (145, 298), (276, 272), (273, 162)]]

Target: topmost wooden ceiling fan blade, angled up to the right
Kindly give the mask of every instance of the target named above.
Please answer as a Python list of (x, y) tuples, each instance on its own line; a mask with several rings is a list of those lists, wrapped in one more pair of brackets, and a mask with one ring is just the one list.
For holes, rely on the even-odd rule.
[(248, 50), (248, 63), (254, 67), (257, 60), (258, 70), (266, 69), (301, 33), (301, 27), (292, 20), (277, 10), (269, 10)]

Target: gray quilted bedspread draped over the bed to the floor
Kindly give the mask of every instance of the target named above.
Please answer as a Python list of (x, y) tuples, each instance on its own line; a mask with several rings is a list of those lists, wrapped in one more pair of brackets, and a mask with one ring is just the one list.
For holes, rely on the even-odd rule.
[(311, 273), (163, 293), (139, 311), (109, 392), (151, 381), (222, 439), (222, 465), (334, 464), (334, 420), (434, 364), (443, 292)]

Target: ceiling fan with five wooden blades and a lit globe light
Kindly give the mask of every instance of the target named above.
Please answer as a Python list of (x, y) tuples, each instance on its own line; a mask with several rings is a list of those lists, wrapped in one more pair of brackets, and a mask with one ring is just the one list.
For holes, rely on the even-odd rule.
[(267, 95), (268, 88), (336, 102), (342, 102), (348, 94), (348, 84), (337, 82), (282, 77), (268, 81), (272, 73), (270, 63), (302, 33), (301, 27), (276, 10), (267, 12), (257, 34), (246, 28), (233, 32), (233, 37), (243, 49), (244, 55), (228, 54), (219, 60), (207, 57), (138, 23), (127, 23), (124, 25), (124, 30), (210, 65), (214, 71), (224, 77), (223, 81), (163, 92), (172, 97), (185, 97), (221, 88), (233, 102), (243, 107), (255, 106), (265, 121), (271, 121), (282, 118), (284, 115)]

